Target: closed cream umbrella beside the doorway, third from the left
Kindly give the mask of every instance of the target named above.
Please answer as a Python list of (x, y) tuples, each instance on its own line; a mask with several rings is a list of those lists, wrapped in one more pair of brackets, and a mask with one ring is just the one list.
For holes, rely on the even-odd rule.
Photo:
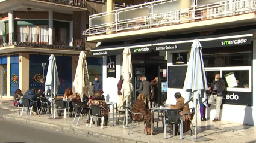
[(131, 51), (128, 47), (123, 50), (123, 65), (122, 65), (122, 75), (123, 75), (123, 84), (122, 84), (122, 95), (123, 100), (127, 102), (131, 96), (131, 92), (133, 92), (133, 84), (131, 84), (132, 79), (132, 63), (131, 63)]

